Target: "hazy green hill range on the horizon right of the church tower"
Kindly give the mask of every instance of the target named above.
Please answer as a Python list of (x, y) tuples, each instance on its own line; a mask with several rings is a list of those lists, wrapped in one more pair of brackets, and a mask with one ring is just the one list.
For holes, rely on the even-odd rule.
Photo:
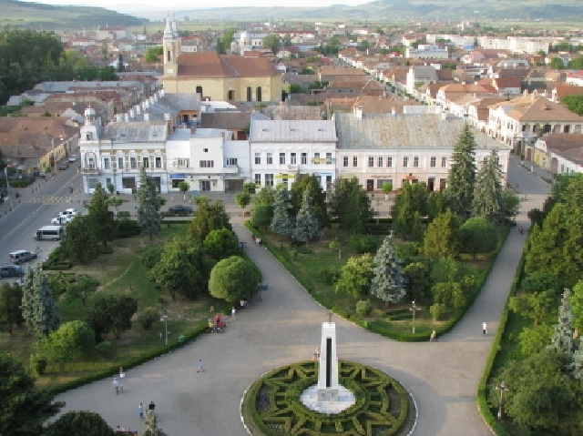
[[(161, 19), (161, 13), (136, 11), (136, 15)], [(366, 5), (300, 8), (300, 7), (220, 7), (212, 9), (183, 9), (175, 11), (177, 17), (189, 15), (193, 19), (217, 20), (274, 20), (274, 19), (337, 19), (337, 20), (387, 20), (410, 19), (451, 20), (556, 20), (580, 21), (583, 19), (581, 0), (377, 0)]]

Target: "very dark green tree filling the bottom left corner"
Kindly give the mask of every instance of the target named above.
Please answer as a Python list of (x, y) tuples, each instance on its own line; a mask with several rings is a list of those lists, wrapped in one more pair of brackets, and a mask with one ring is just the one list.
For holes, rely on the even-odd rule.
[(36, 387), (24, 367), (7, 353), (0, 354), (0, 434), (27, 436), (44, 434), (43, 425), (65, 406), (53, 402), (51, 390)]

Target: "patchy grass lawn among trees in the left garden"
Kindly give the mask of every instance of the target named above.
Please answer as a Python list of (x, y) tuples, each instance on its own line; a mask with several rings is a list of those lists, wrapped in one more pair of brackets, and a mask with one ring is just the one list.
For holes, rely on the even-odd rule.
[[(209, 296), (199, 297), (196, 300), (173, 301), (168, 294), (160, 293), (155, 289), (153, 283), (148, 280), (148, 270), (141, 263), (141, 253), (152, 243), (163, 244), (169, 238), (184, 235), (187, 228), (188, 223), (172, 223), (163, 226), (162, 232), (154, 238), (153, 242), (150, 242), (147, 237), (114, 240), (110, 243), (114, 248), (112, 254), (101, 255), (86, 265), (76, 265), (66, 271), (72, 274), (89, 274), (98, 280), (99, 287), (96, 295), (87, 300), (87, 307), (83, 307), (79, 300), (69, 302), (63, 298), (59, 299), (58, 306), (62, 323), (85, 319), (92, 299), (95, 299), (98, 294), (127, 294), (138, 300), (138, 312), (132, 319), (131, 330), (122, 333), (119, 340), (116, 340), (112, 334), (105, 337), (113, 346), (113, 356), (110, 359), (96, 358), (96, 360), (67, 362), (64, 372), (60, 372), (57, 365), (49, 364), (46, 374), (37, 380), (39, 385), (55, 386), (91, 375), (99, 370), (115, 368), (123, 365), (125, 361), (159, 348), (163, 343), (160, 333), (164, 334), (164, 323), (157, 321), (150, 330), (143, 330), (137, 321), (137, 316), (143, 309), (155, 307), (160, 312), (168, 309), (169, 342), (195, 330), (201, 320), (208, 319), (210, 306), (221, 311), (228, 309), (227, 303), (211, 299)], [(54, 274), (56, 271), (51, 273)], [(33, 343), (34, 340), (26, 335), (25, 329), (16, 329), (14, 337), (5, 333), (0, 335), (1, 350), (12, 352), (26, 367), (28, 367), (31, 353), (34, 352)]]

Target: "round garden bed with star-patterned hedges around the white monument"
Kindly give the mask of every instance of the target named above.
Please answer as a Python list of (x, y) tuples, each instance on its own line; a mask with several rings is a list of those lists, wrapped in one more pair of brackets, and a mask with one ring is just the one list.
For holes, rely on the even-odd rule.
[(302, 391), (318, 383), (318, 362), (282, 366), (255, 380), (241, 402), (241, 416), (253, 435), (293, 434), (404, 436), (414, 427), (414, 401), (384, 372), (350, 361), (339, 362), (339, 383), (356, 402), (337, 414), (311, 411)]

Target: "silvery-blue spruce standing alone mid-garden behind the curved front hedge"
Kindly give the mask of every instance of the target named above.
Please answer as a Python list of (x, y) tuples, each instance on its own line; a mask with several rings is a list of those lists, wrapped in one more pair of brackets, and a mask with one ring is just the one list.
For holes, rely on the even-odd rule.
[(373, 281), (371, 294), (389, 302), (398, 303), (407, 291), (404, 278), (403, 261), (394, 250), (393, 233), (384, 238), (383, 245), (374, 256)]

